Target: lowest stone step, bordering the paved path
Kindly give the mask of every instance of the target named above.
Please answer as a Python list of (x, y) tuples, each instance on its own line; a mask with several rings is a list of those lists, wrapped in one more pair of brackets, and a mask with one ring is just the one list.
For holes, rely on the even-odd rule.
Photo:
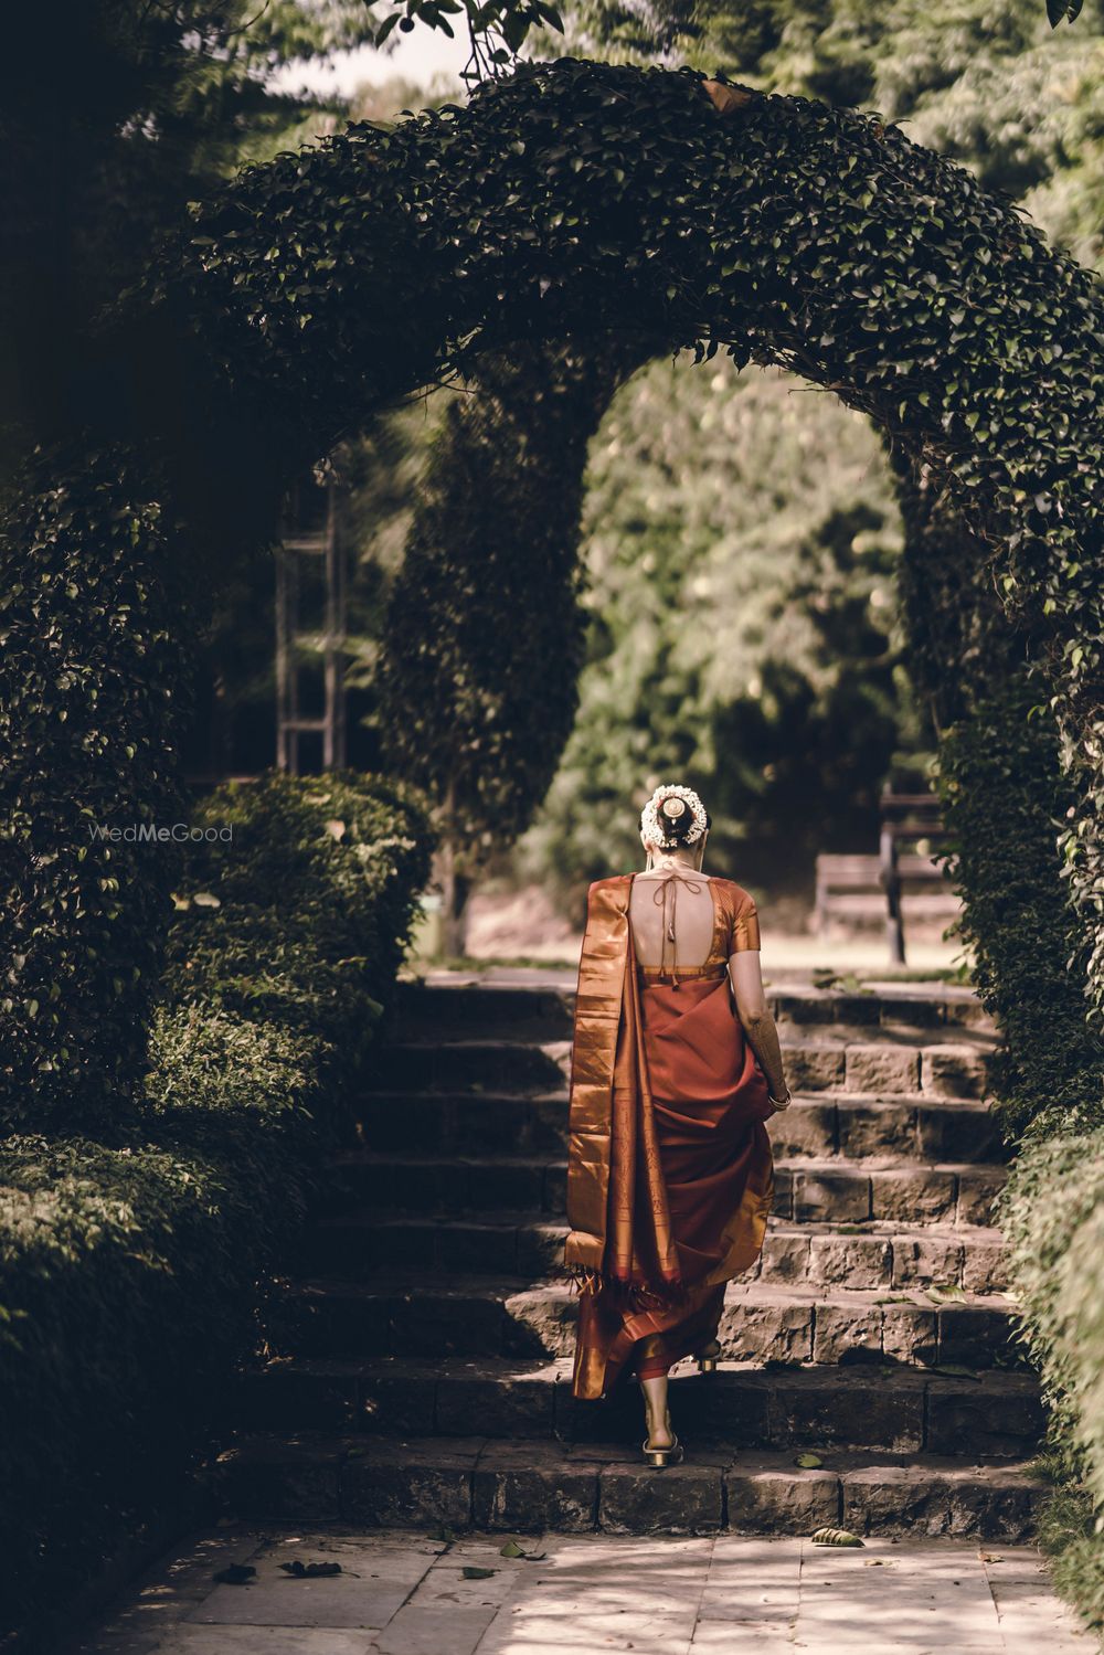
[(859, 1534), (1026, 1539), (1048, 1483), (1030, 1461), (943, 1455), (793, 1455), (690, 1448), (657, 1475), (616, 1443), (252, 1437), (214, 1466), (227, 1516), (384, 1528), (609, 1534)]

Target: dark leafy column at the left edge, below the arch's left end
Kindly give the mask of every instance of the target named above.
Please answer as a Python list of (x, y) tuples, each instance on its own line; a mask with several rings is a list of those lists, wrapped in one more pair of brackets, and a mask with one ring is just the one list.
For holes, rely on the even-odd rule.
[[(169, 909), (189, 649), (161, 480), (38, 455), (0, 526), (0, 1132), (126, 1130)], [(118, 831), (113, 842), (106, 834)]]

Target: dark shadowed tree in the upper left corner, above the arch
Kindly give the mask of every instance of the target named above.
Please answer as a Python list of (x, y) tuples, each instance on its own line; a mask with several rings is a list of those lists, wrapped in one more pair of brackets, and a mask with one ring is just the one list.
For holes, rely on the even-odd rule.
[(324, 108), (268, 73), (374, 35), (364, 0), (53, 0), (5, 23), (0, 485), (31, 444), (96, 429), (96, 319), (187, 200)]

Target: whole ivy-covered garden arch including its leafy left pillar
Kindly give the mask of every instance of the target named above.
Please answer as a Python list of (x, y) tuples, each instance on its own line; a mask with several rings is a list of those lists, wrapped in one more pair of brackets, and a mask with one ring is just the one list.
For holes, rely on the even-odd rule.
[[(988, 551), (1082, 801), (1068, 851), (1104, 1003), (1099, 286), (1015, 207), (874, 116), (745, 89), (717, 96), (723, 114), (692, 73), (564, 60), (483, 88), (467, 109), (386, 132), (351, 127), (247, 169), (195, 209), (137, 296), (151, 316), (141, 359), (104, 353), (124, 458), (98, 452), (68, 473), (40, 462), (28, 478), (33, 500), (5, 551), (20, 588), (10, 624), (33, 650), (70, 558), (94, 563), (81, 516), (89, 478), (101, 505), (116, 516), (132, 508), (134, 521), (170, 492), (162, 551), (154, 541), (144, 551), (156, 586), (159, 558), (177, 554), (189, 525), (204, 518), (217, 533), (204, 515), (212, 478), (223, 478), (217, 496), (228, 482), (240, 488), (245, 455), (275, 487), (376, 407), (513, 341), (644, 333), (786, 366), (866, 410), (945, 487)], [(190, 412), (172, 430), (146, 397), (164, 374), (179, 377)], [(167, 483), (154, 482), (162, 467)], [(131, 492), (113, 492), (124, 473)], [(36, 558), (45, 586), (25, 578)], [(58, 609), (51, 659), (79, 662), (79, 614)], [(46, 770), (41, 745), (22, 735), (41, 730), (43, 674), (7, 660), (22, 919), (0, 1015), (15, 1036), (10, 1076), (17, 1086), (36, 1076), (41, 1091), (46, 1043), (70, 1053), (58, 1084), (108, 1072), (88, 1044), (99, 970), (68, 942), (61, 958), (60, 938), (103, 928), (96, 880), (119, 864), (81, 839), (88, 794), (98, 814), (109, 809), (103, 766), (74, 743), (65, 783)], [(114, 680), (113, 751), (132, 748), (152, 775), (174, 713), (151, 708), (136, 664), (126, 672)], [(73, 710), (88, 715), (79, 690)], [(122, 804), (124, 766), (111, 786)], [(131, 912), (141, 917), (149, 877), (124, 866), (111, 894), (116, 940)], [(118, 976), (111, 991), (124, 1011), (146, 993)], [(43, 1006), (48, 1023), (36, 1021)]]

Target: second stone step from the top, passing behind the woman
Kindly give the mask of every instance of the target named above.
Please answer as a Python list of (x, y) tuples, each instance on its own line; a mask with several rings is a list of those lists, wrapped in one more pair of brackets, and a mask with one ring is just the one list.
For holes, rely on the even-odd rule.
[[(935, 1031), (938, 1033), (938, 1031)], [(952, 1031), (947, 1031), (952, 1033)], [(786, 1077), (794, 1092), (912, 1094), (985, 1097), (995, 1038), (955, 1029), (932, 1041), (930, 1029), (824, 1026), (809, 1038), (780, 1029)], [(568, 1081), (569, 1039), (444, 1039), (381, 1044), (372, 1054), (374, 1092), (548, 1092)]]

